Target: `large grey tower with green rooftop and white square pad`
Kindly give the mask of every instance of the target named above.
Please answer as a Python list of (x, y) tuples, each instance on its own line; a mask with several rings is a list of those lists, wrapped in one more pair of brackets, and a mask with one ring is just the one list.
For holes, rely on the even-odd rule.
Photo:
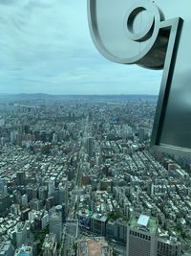
[(127, 256), (157, 256), (158, 221), (133, 215), (127, 226)]

